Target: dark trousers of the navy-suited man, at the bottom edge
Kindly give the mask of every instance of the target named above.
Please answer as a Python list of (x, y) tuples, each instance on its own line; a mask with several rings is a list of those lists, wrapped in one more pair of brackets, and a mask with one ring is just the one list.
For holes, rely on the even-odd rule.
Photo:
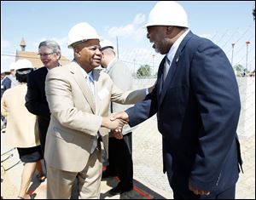
[(195, 195), (191, 191), (191, 195), (184, 196), (183, 194), (179, 194), (176, 191), (173, 191), (173, 199), (235, 199), (236, 195), (236, 185), (230, 186), (228, 189), (224, 191), (213, 191), (210, 195)]

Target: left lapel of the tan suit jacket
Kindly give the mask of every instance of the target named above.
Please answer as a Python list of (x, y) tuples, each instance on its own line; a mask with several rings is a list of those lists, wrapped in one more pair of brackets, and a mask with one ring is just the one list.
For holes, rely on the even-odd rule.
[(91, 107), (91, 111), (93, 111), (93, 113), (96, 113), (96, 106), (93, 101), (93, 96), (92, 96), (90, 88), (85, 80), (85, 77), (83, 77), (79, 67), (81, 67), (81, 66), (79, 66), (77, 63), (73, 62), (70, 72), (73, 75), (74, 80), (76, 81), (76, 83), (78, 83), (80, 89), (82, 90), (82, 92), (84, 94), (84, 98), (88, 101), (88, 103)]

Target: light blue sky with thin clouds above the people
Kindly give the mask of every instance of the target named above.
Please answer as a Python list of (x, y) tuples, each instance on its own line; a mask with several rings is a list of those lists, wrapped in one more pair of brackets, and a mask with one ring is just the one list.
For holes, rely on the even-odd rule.
[[(67, 49), (67, 33), (75, 24), (86, 21), (96, 28), (101, 37), (111, 40), (114, 45), (118, 36), (119, 58), (126, 61), (128, 66), (136, 63), (137, 66), (149, 64), (155, 68), (162, 56), (151, 48), (146, 30), (142, 28), (155, 3), (1, 1), (1, 66), (9, 66), (14, 60), (15, 51), (20, 50), (22, 37), (26, 41), (26, 50), (36, 52), (41, 41), (55, 39), (61, 45), (62, 54), (72, 59), (72, 50)], [(255, 68), (253, 1), (179, 3), (187, 11), (191, 31), (212, 39), (229, 58), (231, 43), (236, 43), (234, 64), (245, 65), (247, 54), (248, 66)], [(251, 42), (247, 53), (246, 41)]]

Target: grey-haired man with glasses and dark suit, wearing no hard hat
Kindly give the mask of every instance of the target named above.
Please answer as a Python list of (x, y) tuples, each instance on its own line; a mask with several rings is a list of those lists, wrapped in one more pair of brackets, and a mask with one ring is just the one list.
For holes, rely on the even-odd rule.
[(44, 155), (44, 145), (50, 119), (49, 106), (44, 90), (45, 77), (50, 69), (60, 66), (61, 48), (55, 41), (46, 40), (39, 44), (38, 55), (44, 66), (32, 71), (27, 77), (26, 108), (38, 117), (39, 137)]

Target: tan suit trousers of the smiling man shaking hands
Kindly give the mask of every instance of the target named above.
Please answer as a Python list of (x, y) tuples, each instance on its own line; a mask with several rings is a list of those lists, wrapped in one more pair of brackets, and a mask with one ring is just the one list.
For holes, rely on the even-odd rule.
[(69, 199), (76, 176), (79, 181), (79, 199), (99, 199), (102, 179), (102, 153), (99, 148), (90, 155), (81, 172), (54, 169), (47, 163), (47, 199)]

